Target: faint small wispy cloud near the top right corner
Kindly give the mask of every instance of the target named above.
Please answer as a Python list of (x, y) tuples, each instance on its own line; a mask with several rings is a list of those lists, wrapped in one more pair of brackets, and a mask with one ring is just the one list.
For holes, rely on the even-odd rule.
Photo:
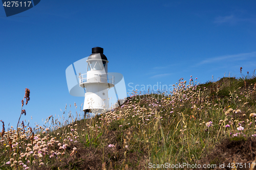
[(241, 18), (234, 15), (227, 15), (227, 16), (218, 16), (214, 20), (215, 23), (238, 23), (238, 22), (252, 22), (256, 23), (256, 18)]

